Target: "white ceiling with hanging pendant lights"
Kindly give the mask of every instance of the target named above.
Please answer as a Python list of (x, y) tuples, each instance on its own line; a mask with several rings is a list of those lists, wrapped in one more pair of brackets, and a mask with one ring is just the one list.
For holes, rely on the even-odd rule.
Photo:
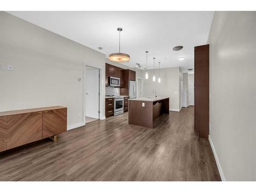
[[(194, 47), (206, 44), (214, 15), (213, 11), (11, 11), (37, 26), (65, 36), (82, 45), (106, 54), (118, 52), (118, 27), (121, 52), (131, 56), (124, 65), (135, 67), (138, 62), (153, 68), (153, 57), (161, 68), (180, 66), (185, 72), (194, 68)], [(182, 45), (181, 51), (173, 47)], [(98, 47), (103, 47), (99, 50)], [(184, 56), (179, 61), (177, 57)], [(158, 65), (157, 65), (158, 67)]]

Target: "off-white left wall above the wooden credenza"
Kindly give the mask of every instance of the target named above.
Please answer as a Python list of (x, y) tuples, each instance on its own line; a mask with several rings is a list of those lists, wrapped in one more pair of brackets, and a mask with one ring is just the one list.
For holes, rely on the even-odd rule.
[[(105, 71), (105, 55), (5, 12), (0, 26), (0, 62), (14, 68), (0, 70), (0, 111), (62, 105), (68, 126), (81, 125), (83, 62)], [(103, 117), (104, 86), (101, 92)]]

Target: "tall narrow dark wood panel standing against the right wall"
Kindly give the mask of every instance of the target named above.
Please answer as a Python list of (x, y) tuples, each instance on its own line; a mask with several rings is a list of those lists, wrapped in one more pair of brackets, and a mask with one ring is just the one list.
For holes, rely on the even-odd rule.
[(195, 132), (209, 135), (209, 45), (195, 47)]

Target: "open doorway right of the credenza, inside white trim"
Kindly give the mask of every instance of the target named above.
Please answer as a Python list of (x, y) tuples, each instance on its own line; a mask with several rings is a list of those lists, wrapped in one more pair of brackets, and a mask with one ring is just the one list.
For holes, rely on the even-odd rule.
[(100, 69), (85, 69), (85, 123), (100, 119)]

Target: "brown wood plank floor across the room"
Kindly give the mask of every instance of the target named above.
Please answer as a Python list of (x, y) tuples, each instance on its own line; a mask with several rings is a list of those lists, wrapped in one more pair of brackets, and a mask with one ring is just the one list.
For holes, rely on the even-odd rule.
[(221, 180), (209, 141), (193, 131), (193, 106), (154, 125), (130, 125), (125, 113), (0, 153), (0, 180)]

